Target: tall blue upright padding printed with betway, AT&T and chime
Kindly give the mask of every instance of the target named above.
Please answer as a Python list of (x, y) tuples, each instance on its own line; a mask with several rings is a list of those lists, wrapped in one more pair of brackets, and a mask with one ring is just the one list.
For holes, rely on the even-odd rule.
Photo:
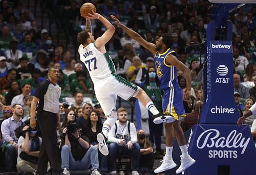
[[(209, 27), (214, 24), (212, 21)], [(208, 28), (207, 28), (208, 31)], [(208, 33), (207, 33), (208, 34)], [(209, 37), (207, 39), (214, 39)], [(207, 40), (206, 101), (200, 123), (236, 124), (239, 113), (234, 102), (232, 41)]]

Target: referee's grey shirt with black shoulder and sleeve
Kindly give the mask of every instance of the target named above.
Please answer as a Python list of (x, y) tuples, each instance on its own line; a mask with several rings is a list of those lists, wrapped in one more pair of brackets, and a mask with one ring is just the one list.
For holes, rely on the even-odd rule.
[(45, 80), (36, 89), (34, 96), (39, 98), (37, 111), (48, 111), (57, 114), (59, 111), (59, 97), (61, 88)]

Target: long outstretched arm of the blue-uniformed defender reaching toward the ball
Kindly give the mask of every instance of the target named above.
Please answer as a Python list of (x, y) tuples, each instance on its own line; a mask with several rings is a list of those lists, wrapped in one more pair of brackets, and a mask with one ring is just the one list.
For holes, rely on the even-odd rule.
[(138, 41), (143, 47), (145, 47), (146, 49), (148, 49), (153, 55), (156, 54), (157, 49), (156, 49), (156, 45), (150, 42), (147, 42), (145, 39), (143, 39), (137, 32), (134, 32), (133, 30), (127, 28), (126, 26), (124, 26), (124, 24), (122, 24), (117, 17), (115, 17), (114, 15), (111, 15), (112, 19), (118, 24), (118, 26), (120, 28), (122, 28), (125, 33), (127, 33), (130, 37), (132, 37), (134, 40)]

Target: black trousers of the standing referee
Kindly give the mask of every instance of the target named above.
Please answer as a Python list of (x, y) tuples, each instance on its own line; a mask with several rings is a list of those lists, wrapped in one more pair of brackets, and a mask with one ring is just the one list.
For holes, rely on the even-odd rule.
[(38, 111), (36, 118), (42, 134), (36, 174), (47, 174), (48, 161), (50, 161), (53, 173), (59, 174), (62, 169), (60, 151), (57, 145), (57, 114)]

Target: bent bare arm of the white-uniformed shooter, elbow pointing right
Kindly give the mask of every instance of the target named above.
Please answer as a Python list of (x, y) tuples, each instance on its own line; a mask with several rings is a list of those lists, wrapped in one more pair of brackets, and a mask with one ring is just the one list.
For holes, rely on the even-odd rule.
[(98, 13), (94, 13), (92, 11), (92, 14), (89, 13), (88, 15), (89, 15), (87, 16), (88, 19), (99, 19), (106, 27), (106, 31), (104, 32), (104, 34), (95, 40), (95, 45), (98, 48), (100, 48), (101, 46), (104, 46), (105, 43), (109, 42), (109, 40), (114, 35), (116, 28), (112, 25), (112, 23), (110, 23), (108, 19), (106, 19), (105, 17), (103, 17)]

